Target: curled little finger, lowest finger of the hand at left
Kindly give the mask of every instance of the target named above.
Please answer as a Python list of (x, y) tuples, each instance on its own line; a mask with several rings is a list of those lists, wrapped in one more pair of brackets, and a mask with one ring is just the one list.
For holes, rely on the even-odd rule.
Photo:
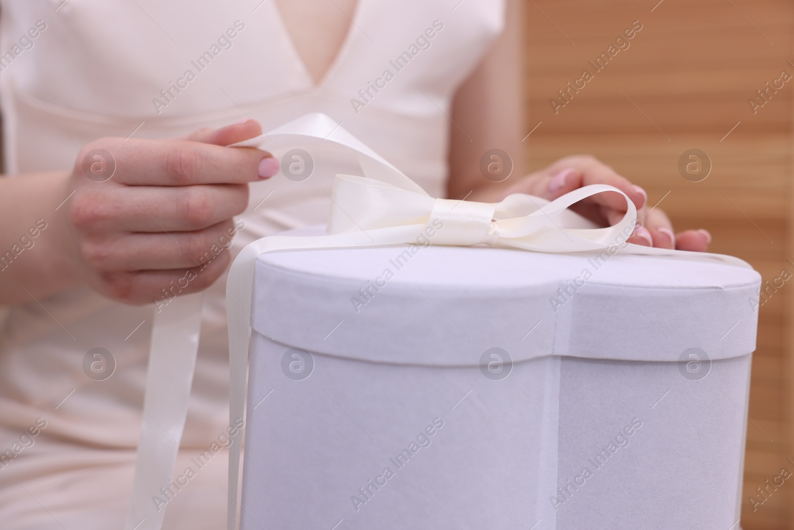
[(222, 252), (203, 268), (102, 273), (100, 277), (105, 282), (106, 296), (125, 304), (157, 304), (162, 308), (175, 296), (210, 287), (225, 272), (229, 261), (229, 253)]

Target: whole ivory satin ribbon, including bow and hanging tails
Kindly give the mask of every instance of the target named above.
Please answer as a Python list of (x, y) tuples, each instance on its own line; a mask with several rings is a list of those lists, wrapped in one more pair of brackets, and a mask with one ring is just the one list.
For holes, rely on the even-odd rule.
[[(329, 235), (272, 236), (252, 242), (234, 260), (226, 282), (229, 324), (229, 425), (245, 415), (250, 339), (250, 309), (256, 257), (278, 250), (341, 249), (410, 244), (426, 226), (440, 220), (430, 241), (437, 245), (489, 246), (535, 252), (580, 252), (621, 246), (634, 229), (637, 211), (618, 188), (594, 184), (571, 191), (551, 202), (530, 195), (510, 195), (500, 203), (434, 199), (393, 165), (324, 114), (303, 118), (243, 141), (235, 146), (275, 150), (331, 142), (357, 156), (364, 176), (337, 175), (333, 183)], [(606, 228), (572, 227), (576, 218), (566, 209), (603, 191), (626, 198), (626, 214)], [(579, 223), (580, 226), (582, 223)], [(690, 253), (628, 244), (622, 253), (710, 259), (750, 267), (745, 261), (720, 254)], [(527, 273), (530, 273), (528, 271)], [(152, 331), (141, 443), (138, 448), (133, 503), (125, 530), (160, 530), (160, 511), (152, 497), (172, 480), (198, 348), (200, 295), (172, 300), (156, 315)], [(230, 437), (228, 530), (237, 525), (240, 457), (243, 435)]]

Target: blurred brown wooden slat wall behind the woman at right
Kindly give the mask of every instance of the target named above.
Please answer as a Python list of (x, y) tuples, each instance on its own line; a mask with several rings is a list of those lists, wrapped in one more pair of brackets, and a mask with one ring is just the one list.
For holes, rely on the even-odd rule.
[[(526, 0), (527, 132), (542, 122), (524, 141), (526, 167), (592, 153), (646, 188), (649, 203), (669, 192), (660, 207), (676, 229), (710, 230), (711, 250), (750, 261), (764, 280), (784, 267), (794, 272), (786, 261), (794, 260), (794, 79), (757, 114), (747, 102), (781, 70), (794, 75), (794, 3), (657, 1)], [(643, 28), (630, 48), (595, 73), (588, 60), (636, 20)], [(595, 78), (554, 114), (549, 99), (585, 68)], [(692, 148), (706, 152), (713, 164), (699, 183), (684, 180), (677, 169), (681, 153)], [(794, 456), (787, 442), (794, 373), (788, 308), (794, 308), (794, 281), (760, 308), (742, 495), (745, 530), (794, 528), (794, 478), (755, 511), (749, 501), (782, 467), (794, 471), (786, 460)]]

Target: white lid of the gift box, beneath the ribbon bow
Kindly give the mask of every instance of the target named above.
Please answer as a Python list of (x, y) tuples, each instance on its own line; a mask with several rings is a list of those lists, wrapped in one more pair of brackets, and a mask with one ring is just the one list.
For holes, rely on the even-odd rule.
[[(321, 235), (322, 227), (291, 235)], [(678, 361), (755, 349), (760, 275), (710, 259), (387, 246), (261, 254), (252, 328), (311, 352), (476, 366), (486, 350)]]

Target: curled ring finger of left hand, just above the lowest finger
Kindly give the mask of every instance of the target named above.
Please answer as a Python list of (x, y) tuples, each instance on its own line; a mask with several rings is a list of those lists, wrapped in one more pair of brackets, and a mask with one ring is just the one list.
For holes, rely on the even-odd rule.
[(206, 267), (232, 245), (237, 234), (231, 220), (194, 232), (126, 234), (107, 242), (85, 238), (83, 258), (98, 271), (134, 272), (153, 269)]

